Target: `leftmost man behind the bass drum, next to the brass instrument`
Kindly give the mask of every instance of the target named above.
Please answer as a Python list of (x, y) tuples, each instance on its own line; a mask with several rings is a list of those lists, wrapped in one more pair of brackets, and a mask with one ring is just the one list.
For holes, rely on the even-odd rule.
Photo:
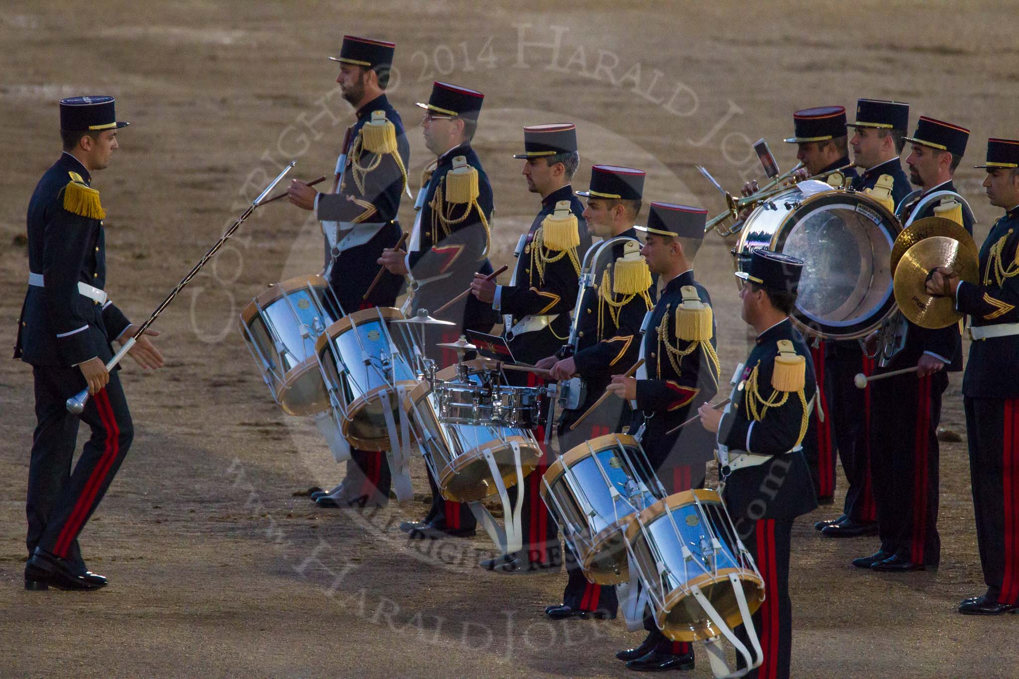
[[(803, 163), (808, 176), (839, 170), (846, 178), (856, 177), (856, 169), (846, 167), (850, 165), (850, 160), (844, 107), (822, 106), (797, 111), (793, 114), (793, 126), (795, 136), (786, 142), (797, 145), (796, 158)], [(855, 340), (853, 344), (856, 344)], [(803, 452), (810, 464), (817, 500), (826, 505), (835, 502), (835, 422), (842, 415), (836, 400), (837, 357), (832, 343), (819, 337), (811, 339), (810, 355), (817, 371), (819, 407), (813, 413)], [(829, 377), (829, 373), (836, 375)]]

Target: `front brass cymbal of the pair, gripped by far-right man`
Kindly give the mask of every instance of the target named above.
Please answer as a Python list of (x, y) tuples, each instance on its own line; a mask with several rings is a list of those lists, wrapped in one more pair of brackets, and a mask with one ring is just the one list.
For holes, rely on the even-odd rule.
[(962, 280), (975, 283), (979, 264), (964, 244), (948, 236), (924, 238), (902, 256), (895, 272), (895, 300), (903, 316), (930, 330), (947, 328), (962, 318), (952, 297), (932, 297), (924, 289), (936, 267), (952, 269)]

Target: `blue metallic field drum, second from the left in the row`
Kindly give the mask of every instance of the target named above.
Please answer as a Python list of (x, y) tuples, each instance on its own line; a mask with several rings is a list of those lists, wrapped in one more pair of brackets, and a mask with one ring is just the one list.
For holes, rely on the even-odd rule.
[[(401, 443), (390, 441), (388, 425), (399, 421), (418, 386), (389, 332), (389, 324), (403, 318), (399, 309), (387, 306), (355, 312), (329, 326), (315, 343), (340, 434), (355, 448), (387, 451)], [(399, 391), (405, 392), (403, 401)], [(389, 402), (388, 417), (384, 400)]]

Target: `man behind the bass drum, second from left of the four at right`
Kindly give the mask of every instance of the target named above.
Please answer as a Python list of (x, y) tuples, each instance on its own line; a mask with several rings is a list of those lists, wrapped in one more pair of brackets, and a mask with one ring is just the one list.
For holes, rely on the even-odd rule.
[[(866, 168), (850, 184), (858, 191), (875, 191), (890, 212), (909, 193), (909, 179), (902, 170), (900, 155), (909, 131), (909, 104), (859, 99), (856, 121), (848, 123), (856, 132), (849, 145), (853, 163)], [(881, 179), (881, 177), (887, 177)], [(878, 181), (881, 186), (877, 187)], [(889, 183), (891, 182), (891, 183)], [(877, 532), (877, 509), (870, 484), (867, 390), (857, 389), (853, 378), (870, 375), (874, 360), (861, 350), (857, 340), (834, 340), (828, 350), (827, 369), (833, 387), (832, 419), (836, 448), (849, 487), (842, 516), (818, 521), (814, 527), (829, 537), (855, 537)]]

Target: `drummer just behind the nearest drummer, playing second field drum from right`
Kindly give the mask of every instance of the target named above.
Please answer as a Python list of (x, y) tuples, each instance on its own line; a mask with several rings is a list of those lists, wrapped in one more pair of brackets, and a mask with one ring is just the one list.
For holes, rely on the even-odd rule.
[[(644, 365), (636, 378), (612, 376), (608, 387), (631, 401), (630, 433), (640, 435), (648, 461), (668, 493), (703, 488), (704, 464), (714, 456), (714, 437), (699, 423), (669, 434), (718, 390), (711, 298), (693, 271), (706, 221), (707, 211), (701, 208), (652, 203), (647, 226), (637, 227), (647, 234), (641, 253), (664, 287), (644, 323)], [(644, 627), (649, 633), (643, 643), (616, 654), (628, 668), (693, 669), (689, 642), (666, 639), (650, 616)]]

